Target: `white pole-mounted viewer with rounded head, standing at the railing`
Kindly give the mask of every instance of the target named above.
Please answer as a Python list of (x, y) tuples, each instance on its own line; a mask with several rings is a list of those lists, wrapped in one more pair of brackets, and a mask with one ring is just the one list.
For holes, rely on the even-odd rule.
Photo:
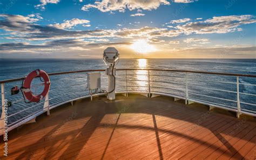
[(103, 60), (109, 67), (106, 68), (106, 75), (108, 79), (107, 99), (116, 99), (116, 68), (119, 62), (118, 50), (114, 47), (107, 47), (103, 53)]

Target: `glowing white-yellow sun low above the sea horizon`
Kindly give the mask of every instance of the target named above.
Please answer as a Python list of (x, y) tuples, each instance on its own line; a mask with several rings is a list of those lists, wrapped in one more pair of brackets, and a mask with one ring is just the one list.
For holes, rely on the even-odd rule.
[(157, 50), (153, 45), (150, 45), (144, 39), (136, 40), (133, 42), (131, 49), (138, 53), (149, 53)]

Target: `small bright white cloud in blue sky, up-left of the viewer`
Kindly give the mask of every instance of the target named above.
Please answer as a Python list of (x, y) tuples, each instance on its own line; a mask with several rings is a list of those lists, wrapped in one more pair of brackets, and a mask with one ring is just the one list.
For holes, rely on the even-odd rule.
[(62, 23), (62, 24), (57, 23), (57, 24), (53, 24), (53, 25), (49, 25), (49, 26), (53, 26), (53, 27), (64, 30), (67, 28), (70, 29), (73, 26), (76, 26), (78, 24), (89, 24), (89, 23), (90, 23), (90, 20), (73, 18), (71, 20), (64, 20), (64, 23)]

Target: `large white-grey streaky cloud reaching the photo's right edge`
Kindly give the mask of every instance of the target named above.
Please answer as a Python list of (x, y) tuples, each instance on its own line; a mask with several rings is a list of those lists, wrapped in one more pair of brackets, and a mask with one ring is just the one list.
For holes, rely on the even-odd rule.
[(213, 17), (204, 21), (191, 22), (185, 25), (179, 25), (177, 28), (183, 30), (186, 34), (228, 33), (241, 31), (241, 28), (238, 28), (239, 26), (252, 23), (256, 23), (255, 16), (233, 15)]

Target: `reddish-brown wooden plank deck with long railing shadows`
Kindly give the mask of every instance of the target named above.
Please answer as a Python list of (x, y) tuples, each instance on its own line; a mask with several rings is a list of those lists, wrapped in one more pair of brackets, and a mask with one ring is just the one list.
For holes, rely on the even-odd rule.
[(255, 159), (256, 127), (167, 97), (99, 97), (38, 117), (8, 143), (8, 159)]

